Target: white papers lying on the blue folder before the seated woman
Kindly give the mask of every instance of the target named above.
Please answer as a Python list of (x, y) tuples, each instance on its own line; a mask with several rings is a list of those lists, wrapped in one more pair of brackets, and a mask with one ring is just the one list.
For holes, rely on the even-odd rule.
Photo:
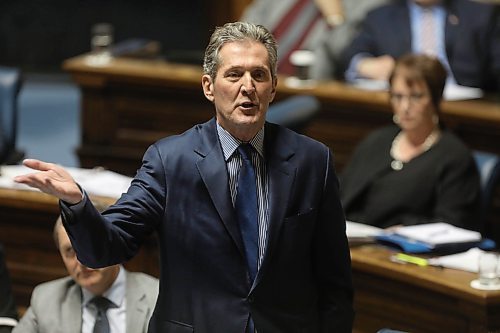
[(481, 240), (481, 234), (477, 231), (459, 228), (444, 222), (400, 227), (396, 233), (430, 245), (476, 242)]

